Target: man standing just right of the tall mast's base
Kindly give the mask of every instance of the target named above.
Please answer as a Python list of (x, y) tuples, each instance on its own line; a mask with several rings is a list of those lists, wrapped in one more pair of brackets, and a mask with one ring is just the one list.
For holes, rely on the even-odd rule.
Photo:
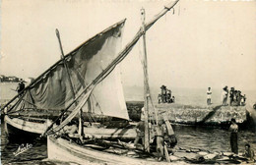
[(158, 152), (158, 159), (159, 161), (163, 159), (164, 153), (163, 153), (163, 127), (162, 125), (162, 120), (159, 121), (158, 126), (156, 127), (156, 137), (157, 137), (157, 152)]

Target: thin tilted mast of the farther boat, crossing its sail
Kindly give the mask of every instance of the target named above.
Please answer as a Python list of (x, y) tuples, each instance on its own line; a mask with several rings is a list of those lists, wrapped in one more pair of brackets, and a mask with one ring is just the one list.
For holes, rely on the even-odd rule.
[[(67, 74), (68, 74), (68, 80), (69, 80), (69, 84), (70, 84), (70, 88), (71, 88), (71, 91), (72, 91), (72, 96), (74, 99), (76, 99), (76, 93), (75, 93), (75, 89), (74, 89), (74, 86), (73, 86), (73, 83), (71, 81), (71, 77), (70, 77), (70, 72), (69, 72), (69, 69), (67, 67), (67, 64), (66, 64), (66, 61), (65, 61), (65, 57), (64, 57), (64, 52), (63, 52), (63, 48), (62, 48), (62, 44), (61, 44), (61, 40), (60, 40), (60, 35), (59, 35), (59, 30), (58, 28), (56, 28), (56, 35), (58, 37), (58, 40), (59, 40), (59, 46), (60, 46), (60, 51), (61, 51), (61, 59), (63, 60), (63, 64), (64, 64), (64, 67), (67, 71)], [(75, 102), (76, 104), (76, 102)], [(80, 110), (80, 118), (79, 118), (79, 135), (80, 136), (83, 136), (84, 135), (84, 129), (83, 129), (83, 116), (82, 116), (82, 109)]]

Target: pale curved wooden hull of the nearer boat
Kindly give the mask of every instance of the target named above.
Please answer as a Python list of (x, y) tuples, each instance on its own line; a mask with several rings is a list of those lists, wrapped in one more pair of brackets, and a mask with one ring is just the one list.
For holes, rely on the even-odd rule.
[(47, 137), (47, 154), (49, 160), (75, 162), (79, 164), (166, 164), (166, 162), (147, 161), (145, 159), (107, 153), (93, 148), (83, 147), (64, 138), (54, 138), (53, 136)]

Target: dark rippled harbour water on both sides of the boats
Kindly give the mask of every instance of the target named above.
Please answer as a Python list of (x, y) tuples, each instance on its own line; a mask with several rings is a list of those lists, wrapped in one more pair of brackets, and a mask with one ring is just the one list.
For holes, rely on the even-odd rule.
[[(199, 128), (190, 126), (173, 126), (178, 143), (176, 147), (201, 148), (210, 151), (230, 151), (229, 133), (223, 128)], [(30, 139), (20, 139), (19, 141), (8, 140), (1, 124), (1, 161), (2, 164), (63, 164), (49, 161), (42, 161), (47, 157), (46, 141), (33, 142)], [(256, 150), (256, 133), (250, 131), (240, 131), (238, 134), (239, 152), (243, 152), (244, 144), (249, 142)], [(32, 148), (14, 156), (19, 145), (22, 143), (33, 143)], [(68, 164), (68, 163), (66, 163)]]

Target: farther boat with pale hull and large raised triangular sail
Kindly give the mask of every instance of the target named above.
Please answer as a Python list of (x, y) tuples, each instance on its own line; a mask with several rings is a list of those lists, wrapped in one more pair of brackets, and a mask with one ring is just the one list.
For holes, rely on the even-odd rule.
[[(78, 104), (83, 101), (87, 85), (92, 83), (102, 69), (115, 58), (120, 49), (122, 27), (125, 20), (104, 29), (93, 38), (84, 42), (71, 53), (41, 74), (34, 82), (27, 86), (23, 95), (17, 95), (10, 103), (14, 103), (5, 112), (5, 125), (9, 134), (28, 133), (39, 136), (50, 126), (50, 121), (60, 123), (58, 116), (69, 115)], [(58, 34), (58, 32), (57, 32)], [(135, 138), (134, 129), (123, 128), (129, 119), (126, 110), (123, 89), (118, 70), (98, 83), (90, 94), (88, 101), (80, 107), (81, 114), (87, 114), (86, 132), (88, 137), (94, 138)], [(106, 95), (107, 93), (107, 95)], [(77, 98), (76, 98), (77, 97)], [(118, 98), (118, 99), (117, 99)], [(123, 123), (116, 127), (98, 127), (96, 122), (111, 122), (111, 119)], [(50, 120), (50, 121), (49, 121)], [(111, 123), (114, 123), (111, 122)], [(90, 127), (94, 125), (96, 127)], [(13, 131), (13, 132), (12, 132)]]

